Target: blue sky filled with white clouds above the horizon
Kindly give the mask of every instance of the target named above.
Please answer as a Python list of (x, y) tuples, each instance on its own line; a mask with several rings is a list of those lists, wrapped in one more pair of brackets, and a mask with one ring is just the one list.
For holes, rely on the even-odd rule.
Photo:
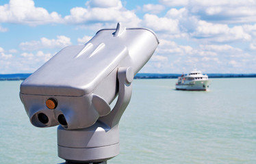
[(160, 44), (140, 72), (256, 73), (254, 0), (1, 0), (0, 74), (31, 73), (118, 22)]

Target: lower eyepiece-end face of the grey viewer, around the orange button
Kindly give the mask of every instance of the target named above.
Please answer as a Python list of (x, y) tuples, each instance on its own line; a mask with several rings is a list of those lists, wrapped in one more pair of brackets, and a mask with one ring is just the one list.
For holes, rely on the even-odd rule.
[[(58, 115), (63, 114), (67, 126), (64, 128), (75, 129), (92, 126), (100, 116), (110, 113), (110, 105), (102, 98), (94, 94), (86, 96), (54, 96), (58, 105), (56, 109), (48, 109), (45, 101), (49, 96), (23, 94), (23, 104), (26, 107), (27, 115), (31, 124), (37, 127), (49, 127), (60, 124), (57, 121)], [(44, 113), (49, 122), (42, 124), (38, 120), (38, 114)]]

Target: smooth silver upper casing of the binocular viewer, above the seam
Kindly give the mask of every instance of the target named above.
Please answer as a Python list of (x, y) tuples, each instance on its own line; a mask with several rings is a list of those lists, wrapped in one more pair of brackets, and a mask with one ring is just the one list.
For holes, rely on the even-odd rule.
[(115, 68), (130, 66), (135, 75), (157, 44), (155, 33), (148, 29), (103, 29), (84, 46), (62, 49), (23, 81), (21, 94), (84, 96)]

